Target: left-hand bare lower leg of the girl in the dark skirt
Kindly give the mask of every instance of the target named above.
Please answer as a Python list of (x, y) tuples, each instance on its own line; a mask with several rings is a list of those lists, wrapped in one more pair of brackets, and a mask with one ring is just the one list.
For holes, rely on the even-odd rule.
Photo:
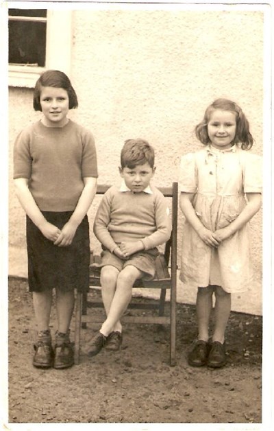
[(32, 299), (38, 331), (47, 331), (51, 317), (52, 290), (33, 292)]

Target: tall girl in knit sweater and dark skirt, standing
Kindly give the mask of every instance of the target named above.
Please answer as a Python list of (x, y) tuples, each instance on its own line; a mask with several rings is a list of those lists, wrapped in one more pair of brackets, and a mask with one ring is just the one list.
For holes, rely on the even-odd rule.
[[(14, 145), (14, 185), (27, 214), (29, 290), (38, 328), (33, 364), (40, 368), (73, 365), (69, 328), (74, 290), (88, 290), (86, 213), (96, 193), (97, 157), (91, 133), (67, 117), (77, 106), (64, 73), (42, 73), (34, 89), (34, 110), (43, 117), (25, 128)], [(52, 347), (53, 288), (58, 326)]]

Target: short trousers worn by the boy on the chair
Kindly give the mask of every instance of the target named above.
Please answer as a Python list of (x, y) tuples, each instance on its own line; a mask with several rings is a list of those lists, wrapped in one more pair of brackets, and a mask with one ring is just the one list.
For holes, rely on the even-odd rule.
[(130, 255), (128, 259), (124, 260), (120, 257), (110, 253), (108, 250), (103, 250), (101, 253), (101, 264), (103, 266), (114, 266), (119, 272), (125, 268), (125, 266), (135, 266), (138, 270), (145, 273), (142, 277), (144, 280), (151, 280), (155, 275), (155, 259), (159, 255), (158, 248), (151, 248), (147, 251), (140, 251)]

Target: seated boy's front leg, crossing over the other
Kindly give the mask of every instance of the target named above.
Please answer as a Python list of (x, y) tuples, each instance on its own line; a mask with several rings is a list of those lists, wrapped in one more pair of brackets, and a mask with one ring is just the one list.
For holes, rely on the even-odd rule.
[(110, 305), (108, 317), (101, 326), (100, 332), (104, 336), (108, 336), (120, 321), (123, 312), (127, 309), (129, 301), (132, 298), (132, 286), (134, 281), (142, 277), (142, 271), (134, 266), (126, 266), (117, 277), (116, 291)]

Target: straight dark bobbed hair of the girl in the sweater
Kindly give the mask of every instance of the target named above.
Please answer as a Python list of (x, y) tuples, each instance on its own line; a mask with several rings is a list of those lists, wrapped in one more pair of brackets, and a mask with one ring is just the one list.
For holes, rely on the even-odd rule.
[(77, 108), (77, 95), (66, 74), (58, 70), (48, 70), (40, 75), (34, 87), (34, 110), (42, 110), (40, 95), (43, 86), (52, 86), (55, 89), (66, 90), (69, 96), (69, 109)]

